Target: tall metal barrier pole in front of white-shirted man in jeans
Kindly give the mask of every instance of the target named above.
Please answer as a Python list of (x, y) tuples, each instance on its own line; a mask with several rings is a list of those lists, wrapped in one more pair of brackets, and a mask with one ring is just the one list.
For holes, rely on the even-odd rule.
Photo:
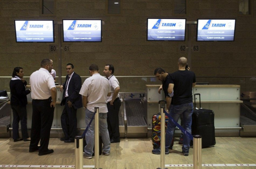
[(95, 168), (99, 168), (99, 107), (94, 107), (94, 157), (95, 157)]

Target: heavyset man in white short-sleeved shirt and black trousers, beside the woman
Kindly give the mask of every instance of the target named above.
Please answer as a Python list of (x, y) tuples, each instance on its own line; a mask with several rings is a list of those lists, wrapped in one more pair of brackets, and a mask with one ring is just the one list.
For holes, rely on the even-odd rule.
[[(38, 150), (38, 155), (53, 153), (53, 149), (49, 150), (48, 145), (57, 90), (53, 76), (50, 74), (51, 69), (53, 69), (53, 61), (43, 59), (41, 68), (30, 75), (33, 112), (29, 152)], [(39, 141), (40, 146), (38, 146)]]

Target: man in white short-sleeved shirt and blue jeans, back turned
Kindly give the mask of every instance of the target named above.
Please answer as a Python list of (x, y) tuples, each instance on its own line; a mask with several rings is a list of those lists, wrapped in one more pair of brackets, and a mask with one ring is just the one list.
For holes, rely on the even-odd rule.
[[(107, 130), (107, 96), (111, 96), (109, 81), (99, 74), (97, 65), (89, 67), (90, 76), (83, 82), (79, 94), (82, 95), (83, 108), (86, 115), (86, 127), (94, 117), (94, 107), (99, 107), (99, 130), (102, 136), (102, 154), (110, 154), (110, 138)], [(93, 158), (94, 147), (94, 119), (85, 135), (86, 146), (83, 157)]]

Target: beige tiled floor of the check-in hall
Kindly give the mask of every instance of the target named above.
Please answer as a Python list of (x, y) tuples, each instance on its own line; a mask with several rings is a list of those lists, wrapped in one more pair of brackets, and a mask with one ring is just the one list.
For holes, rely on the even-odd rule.
[[(176, 167), (166, 168), (193, 168), (190, 166), (193, 164), (193, 148), (190, 149), (189, 156), (184, 156), (181, 148), (182, 145), (178, 144), (176, 139), (173, 150), (165, 155), (165, 164), (176, 164)], [(0, 138), (0, 169), (11, 166), (13, 166), (12, 169), (74, 166), (74, 143), (64, 143), (59, 138), (50, 138), (49, 149), (54, 149), (54, 153), (38, 156), (38, 152), (29, 153), (29, 142), (13, 142), (10, 138)], [(120, 143), (111, 144), (110, 155), (99, 156), (99, 167), (102, 169), (156, 169), (160, 167), (160, 155), (152, 154), (151, 151), (151, 138), (121, 138)], [(83, 158), (83, 165), (85, 167), (94, 165), (94, 160), (95, 157)], [(202, 167), (206, 169), (256, 169), (256, 137), (216, 137), (214, 147), (202, 149), (202, 164), (210, 164)], [(255, 166), (234, 167), (216, 166), (216, 164), (255, 164)]]

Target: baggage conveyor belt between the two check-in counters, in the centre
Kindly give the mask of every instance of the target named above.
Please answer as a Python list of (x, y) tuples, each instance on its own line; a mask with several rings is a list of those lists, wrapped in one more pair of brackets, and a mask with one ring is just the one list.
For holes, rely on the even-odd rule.
[(143, 115), (144, 109), (140, 100), (125, 100), (123, 102), (125, 136), (146, 137), (147, 124)]

